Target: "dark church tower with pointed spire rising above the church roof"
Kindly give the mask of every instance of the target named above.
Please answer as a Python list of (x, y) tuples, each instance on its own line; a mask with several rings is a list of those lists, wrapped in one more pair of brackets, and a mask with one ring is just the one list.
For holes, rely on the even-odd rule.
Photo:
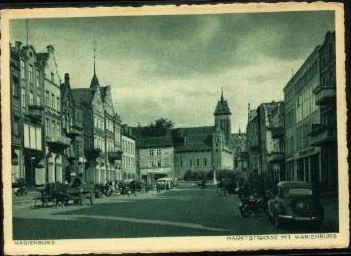
[(229, 142), (231, 134), (231, 120), (230, 117), (232, 113), (228, 107), (227, 100), (223, 97), (223, 90), (221, 94), (221, 99), (217, 102), (216, 110), (213, 114), (215, 116), (215, 128), (222, 131), (225, 142)]

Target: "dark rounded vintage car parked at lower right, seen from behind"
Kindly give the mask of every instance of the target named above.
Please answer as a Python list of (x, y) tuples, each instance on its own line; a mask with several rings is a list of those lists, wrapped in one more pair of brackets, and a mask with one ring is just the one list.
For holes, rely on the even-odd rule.
[(300, 181), (281, 181), (275, 196), (268, 200), (268, 217), (276, 227), (286, 222), (300, 222), (320, 227), (324, 209), (312, 184)]

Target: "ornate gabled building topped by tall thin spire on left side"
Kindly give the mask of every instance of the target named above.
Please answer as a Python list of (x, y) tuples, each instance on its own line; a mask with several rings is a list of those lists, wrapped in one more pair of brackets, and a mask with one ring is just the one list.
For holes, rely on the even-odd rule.
[(113, 109), (110, 87), (100, 86), (95, 61), (90, 87), (72, 89), (72, 95), (83, 111), (86, 181), (117, 180), (121, 176), (121, 120)]

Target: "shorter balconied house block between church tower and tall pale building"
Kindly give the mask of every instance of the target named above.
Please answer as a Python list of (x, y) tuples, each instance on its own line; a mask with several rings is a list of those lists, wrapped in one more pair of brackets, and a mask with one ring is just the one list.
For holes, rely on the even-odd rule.
[(284, 102), (272, 101), (250, 110), (246, 128), (248, 177), (272, 187), (284, 179)]

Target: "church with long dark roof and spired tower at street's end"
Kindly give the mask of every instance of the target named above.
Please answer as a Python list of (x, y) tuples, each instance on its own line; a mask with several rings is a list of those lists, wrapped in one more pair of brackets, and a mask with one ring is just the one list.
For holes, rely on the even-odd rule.
[(214, 126), (173, 130), (175, 173), (182, 179), (187, 171), (233, 170), (234, 144), (231, 112), (221, 94), (214, 112)]

